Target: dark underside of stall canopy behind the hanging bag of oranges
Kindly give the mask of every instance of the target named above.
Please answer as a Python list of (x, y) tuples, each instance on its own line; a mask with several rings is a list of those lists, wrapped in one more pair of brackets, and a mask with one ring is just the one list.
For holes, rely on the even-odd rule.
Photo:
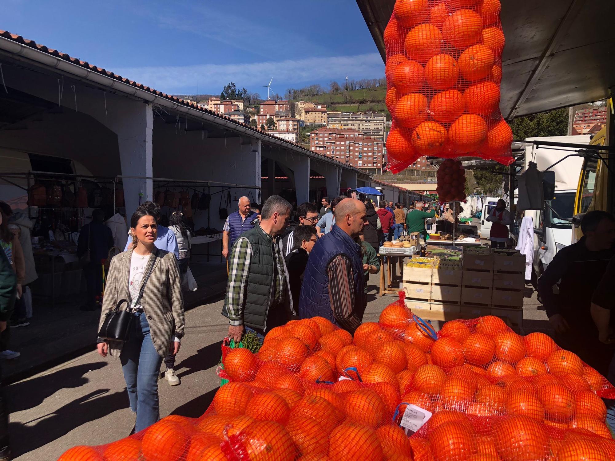
[[(502, 115), (514, 117), (605, 99), (615, 86), (615, 1), (502, 1)], [(357, 0), (383, 57), (395, 0)]]

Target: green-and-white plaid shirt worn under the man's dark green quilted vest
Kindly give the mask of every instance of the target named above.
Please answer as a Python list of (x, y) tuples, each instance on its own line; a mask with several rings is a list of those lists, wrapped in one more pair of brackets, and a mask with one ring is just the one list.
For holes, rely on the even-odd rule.
[[(275, 304), (282, 304), (286, 296), (286, 274), (284, 259), (280, 250), (280, 237), (271, 237), (260, 226), (258, 229), (270, 240), (273, 240), (274, 254), (274, 299)], [(226, 285), (226, 309), (229, 323), (232, 326), (244, 325), (245, 285), (250, 274), (250, 260), (252, 259), (252, 246), (248, 239), (239, 237), (231, 248), (229, 254), (229, 278)]]

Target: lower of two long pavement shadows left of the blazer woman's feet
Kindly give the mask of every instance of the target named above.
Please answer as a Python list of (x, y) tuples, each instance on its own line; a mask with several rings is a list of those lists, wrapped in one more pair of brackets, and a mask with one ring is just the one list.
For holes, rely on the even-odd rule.
[[(38, 418), (38, 422), (33, 420), (25, 424), (10, 423), (9, 434), (13, 456), (18, 457), (28, 453), (62, 437), (82, 424), (128, 407), (128, 395), (125, 390), (109, 393), (109, 389), (98, 389), (73, 400), (53, 413)], [(126, 435), (128, 431), (129, 429)], [(86, 444), (94, 442), (94, 438), (84, 441)]]

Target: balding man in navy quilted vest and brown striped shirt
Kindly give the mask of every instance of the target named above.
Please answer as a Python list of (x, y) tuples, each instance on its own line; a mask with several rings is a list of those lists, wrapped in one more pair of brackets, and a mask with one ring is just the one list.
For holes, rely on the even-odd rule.
[(319, 315), (349, 333), (363, 320), (365, 280), (361, 246), (355, 239), (368, 223), (365, 204), (341, 200), (333, 211), (335, 224), (310, 252), (299, 297), (299, 317)]

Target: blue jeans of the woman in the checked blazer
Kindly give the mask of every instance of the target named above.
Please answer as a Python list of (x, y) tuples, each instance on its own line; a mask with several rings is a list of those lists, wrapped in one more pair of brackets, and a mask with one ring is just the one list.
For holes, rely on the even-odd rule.
[(126, 380), (130, 409), (137, 413), (135, 432), (160, 419), (158, 374), (162, 357), (154, 349), (149, 323), (144, 312), (135, 314), (130, 339), (119, 356)]

